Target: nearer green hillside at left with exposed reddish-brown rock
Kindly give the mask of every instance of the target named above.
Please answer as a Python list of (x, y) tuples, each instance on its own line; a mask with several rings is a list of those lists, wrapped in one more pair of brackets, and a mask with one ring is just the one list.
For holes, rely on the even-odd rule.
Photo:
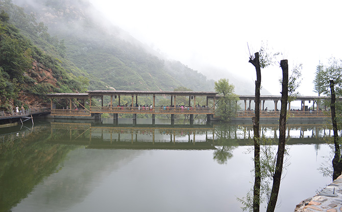
[[(41, 42), (45, 50), (38, 48), (32, 39), (25, 36), (26, 33), (13, 25), (13, 13), (7, 13), (6, 6), (18, 12), (15, 17), (21, 20), (27, 32), (35, 33), (31, 37), (35, 42)], [(43, 107), (47, 103), (45, 93), (85, 91), (89, 85), (88, 78), (71, 74), (62, 66), (62, 61), (54, 57), (61, 53), (58, 49), (63, 49), (63, 45), (46, 31), (39, 31), (44, 27), (20, 12), (20, 8), (1, 2), (0, 109), (13, 109), (17, 105)]]

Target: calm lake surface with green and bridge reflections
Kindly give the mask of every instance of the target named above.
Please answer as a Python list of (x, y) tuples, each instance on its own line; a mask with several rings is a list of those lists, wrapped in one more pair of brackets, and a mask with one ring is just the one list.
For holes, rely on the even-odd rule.
[[(287, 126), (276, 211), (294, 211), (331, 182), (319, 170), (331, 169), (329, 130)], [(277, 125), (261, 131), (279, 136)], [(241, 211), (237, 198), (253, 187), (252, 136), (252, 125), (180, 120), (35, 120), (2, 128), (0, 211)]]

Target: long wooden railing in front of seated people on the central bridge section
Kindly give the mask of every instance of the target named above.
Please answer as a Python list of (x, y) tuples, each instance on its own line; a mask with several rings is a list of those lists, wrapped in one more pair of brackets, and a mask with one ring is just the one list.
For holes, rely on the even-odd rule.
[(91, 113), (161, 113), (161, 114), (214, 114), (215, 110), (213, 108), (202, 108), (202, 107), (192, 107), (192, 108), (145, 108), (142, 109), (138, 107), (90, 107)]

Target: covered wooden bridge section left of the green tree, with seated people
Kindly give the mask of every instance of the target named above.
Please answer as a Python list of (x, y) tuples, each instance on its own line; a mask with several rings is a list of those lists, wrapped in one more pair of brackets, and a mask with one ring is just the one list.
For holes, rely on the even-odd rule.
[[(131, 113), (133, 119), (136, 114), (171, 114), (171, 119), (175, 119), (175, 114), (190, 114), (190, 120), (194, 114), (213, 115), (215, 112), (216, 92), (211, 91), (127, 91), (127, 90), (93, 90), (86, 93), (51, 93), (46, 96), (51, 99), (51, 115), (62, 116), (91, 116), (92, 114), (112, 113), (114, 119), (118, 118), (119, 113)], [(110, 97), (109, 105), (104, 106), (104, 97)], [(130, 96), (132, 101), (121, 105), (121, 97)], [(140, 107), (138, 97), (150, 96), (153, 98), (152, 104)], [(156, 105), (156, 96), (167, 97), (170, 99), (169, 106)], [(135, 98), (134, 98), (135, 97)], [(188, 97), (188, 105), (176, 105), (176, 98)], [(206, 105), (199, 105), (196, 98), (205, 97)], [(64, 99), (67, 102), (66, 108), (56, 108), (54, 99)], [(94, 105), (94, 99), (101, 99), (101, 106)], [(113, 105), (113, 99), (118, 99), (118, 104)], [(135, 102), (134, 102), (135, 99)], [(210, 102), (209, 99), (213, 101)], [(87, 103), (87, 104), (86, 104)], [(76, 105), (76, 106), (75, 106)]]

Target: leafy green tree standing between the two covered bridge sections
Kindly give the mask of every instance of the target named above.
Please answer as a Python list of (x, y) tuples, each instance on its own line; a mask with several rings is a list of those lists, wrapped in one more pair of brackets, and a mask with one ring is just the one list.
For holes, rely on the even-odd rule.
[(216, 113), (221, 117), (221, 121), (230, 121), (239, 108), (237, 105), (239, 98), (234, 93), (234, 85), (229, 84), (228, 79), (219, 79), (215, 82), (215, 91), (221, 96), (216, 103)]

